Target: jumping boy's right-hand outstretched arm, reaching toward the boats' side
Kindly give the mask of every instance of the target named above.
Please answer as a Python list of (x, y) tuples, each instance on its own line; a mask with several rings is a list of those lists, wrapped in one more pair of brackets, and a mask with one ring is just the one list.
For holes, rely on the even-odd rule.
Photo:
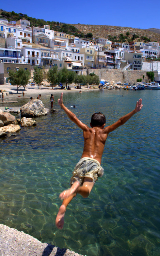
[(132, 117), (132, 115), (134, 115), (135, 113), (139, 112), (142, 109), (142, 106), (143, 106), (142, 99), (139, 99), (139, 101), (137, 101), (135, 109), (133, 111), (131, 111), (127, 115), (119, 118), (119, 120), (117, 122), (115, 122), (113, 125), (109, 125), (108, 127), (106, 127), (104, 129), (104, 132), (109, 133), (109, 132), (115, 130), (117, 127), (125, 124), (129, 120), (129, 118)]

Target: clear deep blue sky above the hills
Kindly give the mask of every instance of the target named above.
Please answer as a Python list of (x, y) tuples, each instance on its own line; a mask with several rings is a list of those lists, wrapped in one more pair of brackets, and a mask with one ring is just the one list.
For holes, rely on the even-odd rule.
[(8, 0), (1, 2), (0, 8), (36, 19), (69, 24), (160, 28), (160, 0)]

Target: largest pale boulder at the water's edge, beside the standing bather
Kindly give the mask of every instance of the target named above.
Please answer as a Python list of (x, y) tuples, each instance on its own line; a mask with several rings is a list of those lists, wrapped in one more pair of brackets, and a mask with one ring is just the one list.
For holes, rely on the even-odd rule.
[(20, 108), (21, 117), (36, 117), (47, 115), (41, 100), (31, 100)]

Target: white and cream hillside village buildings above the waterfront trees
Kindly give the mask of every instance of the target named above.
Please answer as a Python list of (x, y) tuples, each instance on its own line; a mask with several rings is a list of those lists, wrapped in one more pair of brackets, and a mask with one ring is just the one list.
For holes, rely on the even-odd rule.
[(132, 28), (124, 29), (123, 33), (127, 32), (123, 34), (114, 26), (98, 26), (95, 31), (91, 30), (94, 25), (74, 26), (89, 37), (55, 31), (50, 25), (31, 27), (23, 14), (17, 21), (0, 17), (0, 84), (9, 83), (9, 69), (31, 70), (35, 66), (65, 67), (78, 75), (87, 69), (157, 71), (156, 80), (160, 81), (160, 34), (147, 31), (146, 37)]

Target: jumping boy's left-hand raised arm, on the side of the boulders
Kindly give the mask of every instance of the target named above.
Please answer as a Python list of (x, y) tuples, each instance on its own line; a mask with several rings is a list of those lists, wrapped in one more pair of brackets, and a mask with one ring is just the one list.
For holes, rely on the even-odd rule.
[(65, 111), (69, 119), (73, 121), (79, 128), (81, 128), (83, 131), (87, 131), (89, 129), (87, 125), (83, 124), (77, 118), (77, 116), (73, 112), (71, 112), (69, 109), (67, 109), (66, 106), (63, 104), (63, 93), (61, 94), (60, 99), (58, 99), (58, 103), (61, 106), (61, 108)]

